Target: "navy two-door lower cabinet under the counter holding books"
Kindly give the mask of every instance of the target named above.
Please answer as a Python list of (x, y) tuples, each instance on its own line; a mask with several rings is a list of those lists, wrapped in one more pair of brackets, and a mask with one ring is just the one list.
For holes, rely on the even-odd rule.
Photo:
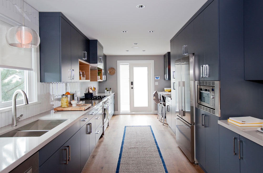
[(220, 172), (262, 172), (263, 146), (219, 126)]

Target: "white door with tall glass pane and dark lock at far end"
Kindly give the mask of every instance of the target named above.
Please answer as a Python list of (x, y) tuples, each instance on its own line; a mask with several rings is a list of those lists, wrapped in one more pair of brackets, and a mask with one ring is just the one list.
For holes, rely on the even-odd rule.
[(130, 112), (151, 111), (151, 64), (129, 64)]

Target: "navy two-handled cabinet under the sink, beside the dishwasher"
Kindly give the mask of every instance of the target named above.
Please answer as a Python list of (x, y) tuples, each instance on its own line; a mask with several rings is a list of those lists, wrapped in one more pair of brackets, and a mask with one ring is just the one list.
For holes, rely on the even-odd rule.
[(80, 172), (80, 131), (39, 167), (39, 173)]

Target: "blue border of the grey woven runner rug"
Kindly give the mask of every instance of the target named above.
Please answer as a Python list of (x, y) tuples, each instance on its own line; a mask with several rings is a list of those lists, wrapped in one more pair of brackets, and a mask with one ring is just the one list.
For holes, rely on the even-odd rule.
[[(122, 146), (120, 147), (120, 154), (119, 154), (119, 159), (118, 159), (118, 164), (117, 164), (116, 173), (119, 173), (119, 170), (120, 170), (120, 160), (122, 159), (122, 150), (123, 150), (123, 144), (124, 144), (126, 127), (135, 127), (135, 126), (125, 126), (125, 127), (124, 127), (124, 132), (123, 132), (123, 137), (122, 137)], [(151, 133), (153, 134), (153, 138), (154, 138), (156, 147), (157, 147), (157, 149), (158, 149), (159, 156), (160, 156), (161, 161), (162, 161), (162, 163), (163, 163), (163, 167), (164, 167), (165, 173), (168, 173), (167, 168), (166, 168), (166, 165), (165, 165), (165, 163), (164, 163), (163, 156), (162, 156), (162, 154), (161, 154), (160, 148), (159, 148), (159, 146), (158, 146), (158, 143), (157, 143), (157, 141), (156, 141), (156, 138), (155, 138), (155, 136), (154, 136), (153, 129), (151, 128), (151, 126), (150, 126), (150, 129), (151, 129)]]

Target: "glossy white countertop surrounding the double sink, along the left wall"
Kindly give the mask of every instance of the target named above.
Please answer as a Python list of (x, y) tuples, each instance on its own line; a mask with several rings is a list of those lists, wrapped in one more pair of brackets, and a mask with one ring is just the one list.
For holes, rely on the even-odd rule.
[[(113, 95), (114, 93), (98, 93), (98, 95)], [(89, 101), (85, 101), (89, 102)], [(91, 101), (92, 102), (92, 101)], [(91, 106), (85, 111), (47, 111), (39, 115), (17, 122), (16, 127), (11, 125), (0, 128), (0, 135), (36, 120), (59, 120), (67, 119), (65, 122), (54, 127), (52, 130), (39, 137), (0, 137), (0, 173), (8, 173), (28, 159), (31, 155), (40, 150), (43, 146), (52, 141), (55, 137), (67, 130), (75, 122), (79, 121), (84, 114), (93, 110), (101, 101), (97, 101), (95, 106)]]

